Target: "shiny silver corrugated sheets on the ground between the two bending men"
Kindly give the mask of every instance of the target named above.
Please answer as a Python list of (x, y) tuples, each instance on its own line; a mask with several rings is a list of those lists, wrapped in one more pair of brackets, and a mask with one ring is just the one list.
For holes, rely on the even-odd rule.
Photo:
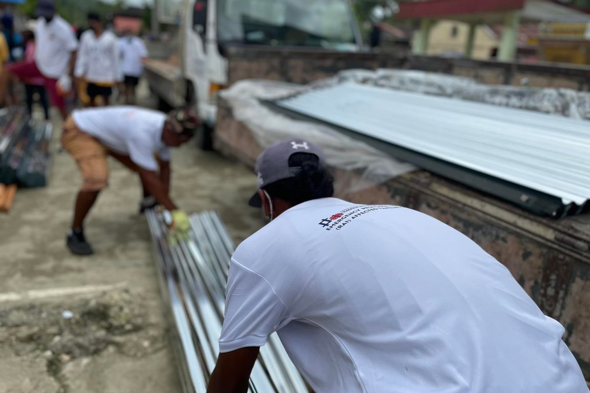
[[(216, 213), (191, 217), (188, 238), (169, 233), (163, 215), (146, 213), (159, 262), (160, 289), (175, 323), (175, 352), (183, 391), (205, 392), (217, 362), (225, 286), (234, 250)], [(260, 350), (250, 392), (307, 393), (276, 334)]]

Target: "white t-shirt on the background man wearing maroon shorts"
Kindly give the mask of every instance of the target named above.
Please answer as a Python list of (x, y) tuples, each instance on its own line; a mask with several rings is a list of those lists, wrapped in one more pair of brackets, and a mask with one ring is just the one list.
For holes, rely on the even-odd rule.
[(78, 40), (68, 22), (59, 15), (47, 23), (37, 19), (35, 28), (35, 63), (45, 77), (59, 79), (68, 72), (71, 52), (78, 48)]

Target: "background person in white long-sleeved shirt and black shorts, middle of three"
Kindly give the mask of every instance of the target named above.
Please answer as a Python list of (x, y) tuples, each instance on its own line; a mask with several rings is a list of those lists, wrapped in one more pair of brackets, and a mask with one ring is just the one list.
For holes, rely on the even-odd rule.
[(109, 105), (113, 86), (122, 80), (117, 37), (105, 29), (100, 15), (91, 12), (88, 22), (90, 30), (81, 36), (74, 75), (77, 80), (83, 78), (87, 82), (86, 91), (90, 99), (87, 106), (96, 107), (98, 97), (101, 97), (103, 105)]

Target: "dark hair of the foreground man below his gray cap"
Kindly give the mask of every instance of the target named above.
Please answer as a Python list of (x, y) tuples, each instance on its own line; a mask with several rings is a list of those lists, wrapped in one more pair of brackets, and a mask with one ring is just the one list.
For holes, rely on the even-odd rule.
[(291, 206), (296, 206), (334, 195), (334, 178), (325, 167), (320, 166), (315, 154), (295, 153), (289, 158), (289, 167), (300, 167), (301, 171), (294, 177), (278, 180), (264, 187), (272, 199), (282, 199)]

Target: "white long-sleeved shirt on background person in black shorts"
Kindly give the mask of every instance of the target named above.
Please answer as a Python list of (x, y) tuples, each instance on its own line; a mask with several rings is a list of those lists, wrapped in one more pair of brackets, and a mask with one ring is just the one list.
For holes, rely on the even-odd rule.
[(119, 42), (117, 36), (104, 31), (96, 37), (94, 31), (86, 31), (80, 38), (80, 51), (76, 60), (76, 77), (85, 77), (91, 83), (112, 85), (121, 81), (119, 67)]

